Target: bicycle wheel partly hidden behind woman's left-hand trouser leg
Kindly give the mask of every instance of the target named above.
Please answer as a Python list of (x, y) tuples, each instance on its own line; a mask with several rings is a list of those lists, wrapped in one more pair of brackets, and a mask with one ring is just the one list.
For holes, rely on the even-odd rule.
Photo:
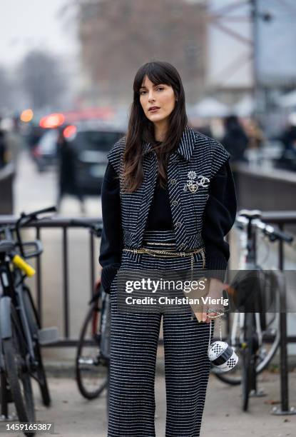
[(82, 396), (94, 399), (108, 385), (108, 357), (101, 351), (102, 293), (91, 303), (81, 329), (76, 354), (76, 381)]

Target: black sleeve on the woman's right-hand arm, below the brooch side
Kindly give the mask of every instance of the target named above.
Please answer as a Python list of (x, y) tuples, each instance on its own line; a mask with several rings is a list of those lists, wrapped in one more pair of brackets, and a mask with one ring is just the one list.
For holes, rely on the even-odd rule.
[[(229, 160), (210, 181), (209, 197), (203, 216), (203, 241), (206, 268), (223, 279), (228, 265), (229, 244), (225, 235), (235, 221), (237, 199)], [(212, 273), (212, 272), (211, 272)]]

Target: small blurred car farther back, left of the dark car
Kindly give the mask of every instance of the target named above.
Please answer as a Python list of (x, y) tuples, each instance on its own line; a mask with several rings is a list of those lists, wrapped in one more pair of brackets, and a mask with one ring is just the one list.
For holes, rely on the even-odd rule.
[(58, 130), (46, 130), (33, 149), (33, 157), (39, 171), (56, 164)]

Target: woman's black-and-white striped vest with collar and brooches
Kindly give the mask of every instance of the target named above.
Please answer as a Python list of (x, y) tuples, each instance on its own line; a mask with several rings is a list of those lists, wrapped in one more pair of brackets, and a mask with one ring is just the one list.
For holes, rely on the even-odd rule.
[[(108, 161), (120, 176), (126, 146), (120, 139), (109, 151)], [(121, 191), (123, 244), (140, 248), (158, 178), (158, 159), (153, 146), (143, 141), (143, 182), (133, 193)], [(230, 158), (224, 146), (187, 126), (178, 148), (168, 161), (168, 194), (178, 251), (203, 247), (203, 211), (210, 180)]]

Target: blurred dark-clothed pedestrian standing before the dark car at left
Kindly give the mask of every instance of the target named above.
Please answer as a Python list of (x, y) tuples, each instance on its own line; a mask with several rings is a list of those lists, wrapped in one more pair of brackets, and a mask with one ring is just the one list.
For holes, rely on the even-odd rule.
[(58, 135), (57, 154), (58, 154), (58, 198), (56, 206), (61, 208), (61, 200), (65, 194), (75, 196), (81, 206), (81, 214), (85, 214), (84, 199), (81, 187), (77, 182), (76, 175), (76, 151), (67, 141), (63, 132), (65, 126)]

